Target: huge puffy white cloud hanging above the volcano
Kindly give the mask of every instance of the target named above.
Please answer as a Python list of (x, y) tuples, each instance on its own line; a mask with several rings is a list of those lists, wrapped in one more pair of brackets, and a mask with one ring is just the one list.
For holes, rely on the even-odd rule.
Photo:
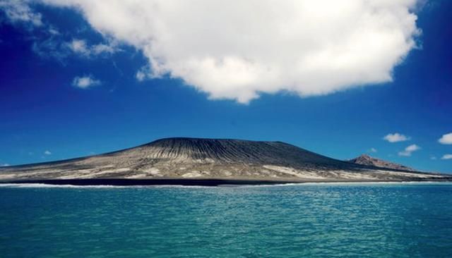
[(389, 82), (420, 34), (416, 0), (41, 1), (143, 51), (151, 69), (138, 80), (170, 75), (242, 103)]

